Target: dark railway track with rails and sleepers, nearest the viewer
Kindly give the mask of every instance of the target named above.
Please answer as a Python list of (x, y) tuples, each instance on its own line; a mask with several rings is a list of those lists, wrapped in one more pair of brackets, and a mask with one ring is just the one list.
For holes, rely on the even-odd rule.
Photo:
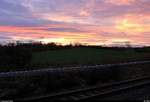
[(17, 101), (44, 101), (44, 100), (88, 100), (95, 97), (105, 97), (116, 92), (125, 91), (132, 88), (142, 87), (150, 84), (150, 76), (115, 82), (112, 84), (104, 84), (101, 86), (93, 86), (84, 89), (70, 90), (57, 94), (47, 94), (41, 96), (33, 96), (28, 98), (16, 99)]

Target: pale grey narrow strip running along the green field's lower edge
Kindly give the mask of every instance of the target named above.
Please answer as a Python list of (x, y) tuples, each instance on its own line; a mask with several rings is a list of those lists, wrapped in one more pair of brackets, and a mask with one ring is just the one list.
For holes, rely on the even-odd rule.
[(134, 62), (124, 62), (118, 64), (101, 64), (101, 65), (92, 65), (92, 66), (78, 66), (78, 67), (62, 67), (62, 68), (47, 68), (39, 70), (25, 70), (25, 71), (14, 71), (14, 72), (0, 72), (0, 78), (4, 77), (18, 77), (18, 76), (38, 76), (43, 73), (60, 73), (65, 71), (88, 71), (91, 69), (100, 69), (108, 68), (113, 66), (128, 66), (128, 65), (139, 65), (150, 63), (150, 60), (147, 61), (134, 61)]

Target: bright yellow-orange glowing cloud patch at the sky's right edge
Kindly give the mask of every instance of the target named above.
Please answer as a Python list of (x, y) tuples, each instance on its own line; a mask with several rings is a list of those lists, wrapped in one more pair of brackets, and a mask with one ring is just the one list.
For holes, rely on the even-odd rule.
[[(125, 15), (119, 17), (116, 21), (116, 30), (126, 33), (141, 34), (143, 32), (150, 32), (150, 24), (145, 22), (150, 22), (150, 15)], [(138, 19), (137, 19), (138, 18)]]

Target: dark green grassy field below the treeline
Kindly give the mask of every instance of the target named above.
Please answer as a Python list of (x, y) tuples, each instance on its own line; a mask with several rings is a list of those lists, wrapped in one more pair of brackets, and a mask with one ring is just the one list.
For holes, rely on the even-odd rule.
[(92, 65), (145, 59), (150, 59), (148, 52), (137, 52), (134, 49), (69, 48), (33, 53), (30, 66)]

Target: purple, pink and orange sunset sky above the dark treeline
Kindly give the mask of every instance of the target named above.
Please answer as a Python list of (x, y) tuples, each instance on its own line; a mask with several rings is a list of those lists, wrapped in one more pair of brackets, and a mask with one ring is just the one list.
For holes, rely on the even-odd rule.
[(0, 42), (150, 45), (150, 0), (0, 0)]

